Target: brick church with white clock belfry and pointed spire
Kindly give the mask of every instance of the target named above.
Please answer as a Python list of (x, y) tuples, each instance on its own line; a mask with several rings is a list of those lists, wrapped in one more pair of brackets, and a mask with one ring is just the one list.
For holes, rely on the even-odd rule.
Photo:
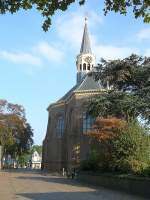
[(90, 152), (90, 139), (86, 135), (94, 119), (87, 114), (90, 100), (103, 88), (91, 72), (96, 58), (91, 50), (87, 20), (80, 54), (77, 56), (76, 85), (61, 99), (48, 107), (48, 126), (43, 141), (42, 168), (50, 171), (77, 168)]

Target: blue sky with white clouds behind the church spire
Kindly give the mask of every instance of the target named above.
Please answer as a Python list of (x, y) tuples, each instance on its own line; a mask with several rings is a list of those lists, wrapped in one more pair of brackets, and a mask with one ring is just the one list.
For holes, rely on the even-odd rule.
[(97, 62), (132, 53), (150, 56), (150, 24), (134, 19), (132, 12), (104, 16), (103, 6), (99, 0), (74, 3), (53, 16), (46, 33), (36, 10), (0, 16), (0, 98), (24, 106), (35, 144), (42, 144), (46, 134), (49, 104), (76, 83), (85, 16)]

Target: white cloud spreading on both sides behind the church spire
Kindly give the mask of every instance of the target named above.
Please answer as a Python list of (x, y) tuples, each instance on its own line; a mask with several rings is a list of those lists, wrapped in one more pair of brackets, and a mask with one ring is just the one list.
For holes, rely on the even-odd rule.
[[(103, 18), (94, 11), (90, 11), (88, 15), (89, 32), (95, 33), (97, 32), (97, 27), (104, 23)], [(63, 45), (66, 45), (66, 49), (72, 49), (76, 53), (79, 53), (80, 51), (83, 28), (84, 15), (81, 12), (69, 13), (64, 18), (57, 20), (56, 23), (57, 34), (63, 41)], [(96, 55), (97, 61), (102, 57), (105, 59), (117, 59), (139, 52), (138, 49), (130, 48), (128, 46), (119, 47), (109, 43), (100, 43), (98, 37), (98, 35), (90, 34), (92, 50)]]

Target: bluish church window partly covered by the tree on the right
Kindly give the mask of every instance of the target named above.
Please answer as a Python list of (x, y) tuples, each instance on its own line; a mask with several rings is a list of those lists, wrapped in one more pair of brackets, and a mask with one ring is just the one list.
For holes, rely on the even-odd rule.
[(95, 119), (87, 114), (86, 112), (83, 113), (83, 133), (87, 133), (93, 128)]

